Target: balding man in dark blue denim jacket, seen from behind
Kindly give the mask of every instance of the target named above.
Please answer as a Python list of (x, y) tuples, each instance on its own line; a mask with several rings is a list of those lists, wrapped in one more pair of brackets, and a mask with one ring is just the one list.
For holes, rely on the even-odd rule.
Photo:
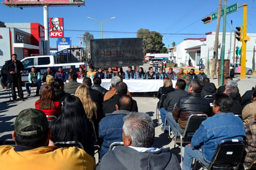
[(132, 99), (122, 95), (116, 104), (116, 111), (108, 114), (99, 122), (99, 140), (102, 158), (114, 141), (122, 141), (123, 118), (132, 110)]

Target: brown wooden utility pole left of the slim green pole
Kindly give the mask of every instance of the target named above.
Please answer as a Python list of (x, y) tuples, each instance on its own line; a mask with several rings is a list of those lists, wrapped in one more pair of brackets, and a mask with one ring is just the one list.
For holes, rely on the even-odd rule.
[(221, 23), (221, 5), (222, 5), (222, 0), (219, 0), (219, 7), (217, 12), (217, 27), (216, 27), (214, 52), (213, 52), (213, 64), (211, 69), (211, 79), (214, 79), (214, 74), (216, 74), (216, 65), (218, 61), (217, 58), (218, 58), (218, 43), (219, 43), (219, 25)]

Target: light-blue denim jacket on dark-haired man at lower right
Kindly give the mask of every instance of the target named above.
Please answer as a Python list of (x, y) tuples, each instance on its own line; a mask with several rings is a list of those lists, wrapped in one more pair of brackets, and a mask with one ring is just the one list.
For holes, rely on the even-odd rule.
[(191, 148), (201, 148), (205, 161), (211, 162), (217, 145), (222, 140), (245, 137), (244, 123), (233, 113), (217, 113), (204, 120), (191, 140)]

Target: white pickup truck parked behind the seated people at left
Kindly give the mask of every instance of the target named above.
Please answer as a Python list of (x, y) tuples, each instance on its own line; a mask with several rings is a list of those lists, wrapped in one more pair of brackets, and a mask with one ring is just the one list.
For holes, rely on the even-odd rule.
[(58, 57), (53, 55), (44, 55), (44, 56), (29, 56), (21, 60), (24, 66), (24, 73), (21, 74), (22, 81), (27, 81), (31, 67), (35, 66), (37, 71), (41, 74), (41, 79), (43, 78), (43, 73), (47, 71), (47, 68), (50, 67), (54, 72), (58, 71), (58, 67), (62, 66), (63, 71), (68, 71), (69, 68), (73, 68), (73, 71), (78, 71), (80, 66), (85, 68), (86, 63), (80, 62), (76, 58), (68, 57)]

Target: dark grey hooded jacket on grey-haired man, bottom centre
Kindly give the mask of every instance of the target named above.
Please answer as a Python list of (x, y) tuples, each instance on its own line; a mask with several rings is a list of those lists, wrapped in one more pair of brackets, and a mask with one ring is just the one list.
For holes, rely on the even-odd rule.
[(139, 152), (129, 146), (116, 146), (101, 159), (97, 169), (180, 169), (178, 159), (170, 148)]

